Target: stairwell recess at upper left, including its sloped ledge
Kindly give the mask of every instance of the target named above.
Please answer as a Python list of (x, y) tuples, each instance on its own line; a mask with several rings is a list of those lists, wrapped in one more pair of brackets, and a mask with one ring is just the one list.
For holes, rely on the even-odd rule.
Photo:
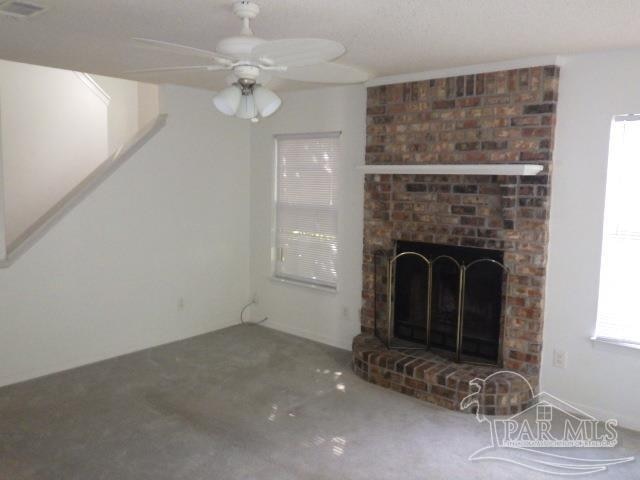
[(164, 125), (156, 85), (0, 60), (0, 268)]

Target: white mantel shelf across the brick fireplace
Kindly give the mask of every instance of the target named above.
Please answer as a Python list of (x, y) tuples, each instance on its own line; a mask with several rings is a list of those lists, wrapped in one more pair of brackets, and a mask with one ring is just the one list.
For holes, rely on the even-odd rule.
[(393, 175), (537, 175), (542, 165), (531, 163), (430, 164), (430, 165), (360, 165), (364, 173)]

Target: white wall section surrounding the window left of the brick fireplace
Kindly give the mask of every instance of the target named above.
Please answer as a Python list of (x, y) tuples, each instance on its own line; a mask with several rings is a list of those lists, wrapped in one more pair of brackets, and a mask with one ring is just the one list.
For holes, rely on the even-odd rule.
[[(363, 175), (366, 91), (333, 87), (282, 95), (272, 117), (251, 130), (251, 289), (259, 305), (255, 318), (267, 326), (342, 348), (351, 348), (360, 330), (362, 291)], [(281, 283), (272, 278), (271, 238), (274, 135), (341, 130), (343, 158), (338, 170), (339, 204), (337, 293)]]

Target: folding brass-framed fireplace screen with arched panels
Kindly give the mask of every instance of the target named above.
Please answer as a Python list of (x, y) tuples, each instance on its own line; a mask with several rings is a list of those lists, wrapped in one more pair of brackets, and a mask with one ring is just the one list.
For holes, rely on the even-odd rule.
[[(398, 260), (407, 257), (414, 257), (418, 259), (418, 262), (424, 262), (425, 265), (425, 275), (426, 278), (421, 279), (423, 283), (420, 285), (425, 285), (426, 288), (426, 306), (425, 308), (425, 317), (426, 317), (426, 325), (424, 325), (425, 338), (424, 342), (421, 344), (416, 344), (415, 342), (407, 342), (405, 340), (400, 340), (395, 335), (395, 303), (396, 303), (396, 295), (397, 295), (397, 282), (396, 282), (396, 270)], [(464, 264), (459, 262), (455, 258), (449, 255), (439, 255), (431, 260), (429, 260), (426, 256), (413, 252), (413, 251), (405, 251), (402, 253), (398, 253), (393, 255), (388, 261), (386, 265), (386, 273), (387, 273), (387, 305), (386, 305), (386, 325), (382, 332), (377, 328), (376, 321), (376, 335), (386, 344), (387, 348), (393, 349), (402, 349), (402, 350), (436, 350), (439, 351), (441, 349), (438, 348), (437, 342), (433, 342), (432, 338), (432, 320), (434, 318), (434, 267), (437, 267), (441, 262), (449, 262), (450, 268), (454, 269), (453, 274), (457, 273), (457, 279), (454, 277), (454, 281), (457, 280), (457, 292), (452, 291), (452, 298), (456, 301), (457, 305), (455, 305), (455, 314), (453, 314), (453, 322), (455, 325), (451, 325), (450, 332), (450, 343), (452, 345), (449, 346), (447, 352), (442, 352), (446, 354), (453, 354), (453, 358), (456, 362), (465, 361), (466, 363), (473, 364), (484, 364), (484, 365), (500, 365), (502, 360), (502, 330), (503, 330), (503, 318), (506, 312), (507, 305), (507, 296), (509, 292), (509, 269), (501, 262), (491, 259), (491, 258), (480, 258), (474, 261), (469, 262), (468, 264)], [(377, 262), (376, 262), (377, 263)], [(497, 292), (499, 298), (497, 299), (500, 309), (498, 315), (498, 319), (494, 319), (498, 322), (497, 325), (497, 338), (495, 338), (494, 345), (495, 347), (495, 356), (473, 356), (468, 355), (464, 352), (463, 342), (465, 345), (470, 343), (470, 336), (465, 336), (465, 302), (468, 300), (468, 295), (471, 295), (473, 292), (469, 291), (471, 287), (475, 287), (476, 289), (482, 285), (478, 284), (478, 281), (472, 282), (472, 285), (468, 285), (468, 277), (469, 274), (474, 272), (474, 269), (477, 269), (480, 265), (492, 265), (501, 271), (500, 276), (502, 281), (500, 282), (500, 291)], [(440, 267), (442, 268), (442, 267)], [(498, 272), (499, 273), (499, 272)], [(377, 275), (376, 275), (377, 277)], [(436, 282), (437, 283), (437, 282)], [(376, 289), (377, 290), (377, 289)], [(455, 298), (455, 293), (457, 293), (457, 298)], [(376, 302), (377, 303), (377, 302)], [(494, 312), (495, 315), (495, 312)], [(477, 315), (475, 316), (477, 317)], [(377, 315), (376, 315), (377, 318)], [(474, 320), (475, 321), (475, 320)], [(470, 325), (471, 326), (471, 325)], [(473, 330), (473, 328), (469, 328), (469, 330)], [(483, 335), (484, 332), (480, 331), (480, 335)], [(469, 334), (471, 335), (471, 334)], [(463, 359), (464, 354), (464, 359)], [(469, 358), (467, 358), (469, 357)]]

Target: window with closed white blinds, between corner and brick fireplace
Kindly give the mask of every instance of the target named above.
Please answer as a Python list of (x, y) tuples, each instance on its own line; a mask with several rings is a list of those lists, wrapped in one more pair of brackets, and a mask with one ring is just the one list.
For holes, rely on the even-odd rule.
[(339, 134), (276, 137), (275, 276), (336, 287)]

